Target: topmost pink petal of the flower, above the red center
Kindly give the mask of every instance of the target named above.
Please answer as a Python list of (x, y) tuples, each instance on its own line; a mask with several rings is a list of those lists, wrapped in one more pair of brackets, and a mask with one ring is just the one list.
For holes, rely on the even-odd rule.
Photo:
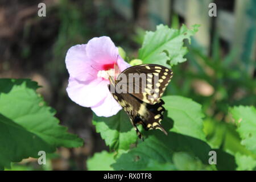
[[(90, 60), (104, 64), (114, 64), (118, 58), (118, 48), (108, 36), (90, 39), (86, 46)], [(102, 67), (103, 68), (103, 67)]]

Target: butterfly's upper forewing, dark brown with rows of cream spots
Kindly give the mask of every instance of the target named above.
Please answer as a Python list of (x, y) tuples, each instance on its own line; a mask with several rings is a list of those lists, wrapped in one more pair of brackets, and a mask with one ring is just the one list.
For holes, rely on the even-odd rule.
[[(143, 74), (146, 75), (144, 79), (140, 77)], [(130, 79), (130, 75), (134, 78)], [(127, 79), (123, 81), (122, 76)], [(154, 105), (160, 101), (171, 78), (171, 69), (158, 64), (141, 64), (125, 69), (117, 77), (116, 84), (122, 84), (122, 89), (126, 90), (126, 93), (132, 94), (147, 104)], [(136, 90), (139, 91), (136, 92)]]

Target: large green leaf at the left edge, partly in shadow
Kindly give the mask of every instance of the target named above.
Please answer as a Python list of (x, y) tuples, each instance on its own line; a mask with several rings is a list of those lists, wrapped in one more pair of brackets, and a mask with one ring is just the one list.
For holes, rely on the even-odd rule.
[(79, 147), (82, 140), (58, 125), (55, 111), (35, 92), (36, 82), (0, 79), (0, 168), (56, 147)]

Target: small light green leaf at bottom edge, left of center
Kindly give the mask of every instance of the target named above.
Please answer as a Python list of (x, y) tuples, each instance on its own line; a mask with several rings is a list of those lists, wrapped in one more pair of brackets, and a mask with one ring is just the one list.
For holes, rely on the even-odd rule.
[(114, 153), (102, 151), (87, 160), (87, 168), (89, 171), (113, 171), (110, 165), (114, 162)]

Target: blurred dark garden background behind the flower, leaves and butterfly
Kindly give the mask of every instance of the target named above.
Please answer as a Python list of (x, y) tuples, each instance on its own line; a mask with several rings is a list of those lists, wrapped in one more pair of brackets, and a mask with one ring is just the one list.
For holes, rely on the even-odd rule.
[[(46, 4), (46, 17), (38, 4)], [(217, 16), (208, 7), (216, 3)], [(163, 23), (173, 28), (201, 24), (189, 45), (188, 61), (173, 68), (166, 94), (190, 97), (203, 105), (206, 118), (230, 122), (228, 106), (255, 105), (255, 0), (0, 0), (0, 78), (31, 78), (56, 117), (84, 147), (59, 148), (46, 166), (36, 159), (13, 170), (84, 170), (86, 159), (109, 150), (92, 125), (92, 112), (72, 102), (65, 91), (65, 54), (95, 36), (110, 36), (131, 59), (146, 30)], [(209, 137), (209, 136), (208, 136)]]

